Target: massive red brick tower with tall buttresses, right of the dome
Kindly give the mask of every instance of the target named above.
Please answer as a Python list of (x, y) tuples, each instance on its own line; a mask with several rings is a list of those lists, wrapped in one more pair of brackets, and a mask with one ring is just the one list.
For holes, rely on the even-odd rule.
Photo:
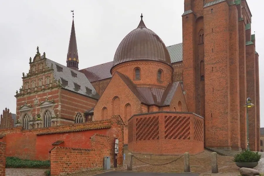
[(204, 116), (204, 145), (259, 151), (259, 76), (246, 0), (185, 0), (183, 84), (188, 110)]

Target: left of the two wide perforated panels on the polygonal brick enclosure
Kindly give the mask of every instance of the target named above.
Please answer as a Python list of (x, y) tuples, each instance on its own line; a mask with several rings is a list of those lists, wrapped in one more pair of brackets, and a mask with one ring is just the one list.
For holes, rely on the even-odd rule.
[(159, 139), (159, 117), (136, 118), (136, 141)]

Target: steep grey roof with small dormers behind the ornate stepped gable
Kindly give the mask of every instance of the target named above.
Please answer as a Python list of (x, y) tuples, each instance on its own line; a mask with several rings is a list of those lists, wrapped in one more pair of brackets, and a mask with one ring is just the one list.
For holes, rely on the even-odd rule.
[[(68, 68), (68, 67), (61, 65), (57, 62), (54, 62), (50, 59), (46, 59), (46, 60), (47, 60), (47, 66), (48, 67), (51, 67), (51, 64), (53, 64), (53, 69), (54, 69), (53, 74), (54, 74), (55, 80), (60, 80), (60, 82), (62, 82), (62, 79), (64, 79), (68, 82), (68, 84), (66, 86), (63, 86), (64, 89), (85, 95), (87, 97), (99, 99), (98, 93), (96, 92), (96, 90), (94, 89), (92, 84), (89, 82), (89, 80), (87, 79), (87, 77), (83, 73), (75, 71), (71, 68)], [(62, 68), (61, 72), (57, 70), (57, 66)], [(73, 77), (71, 72), (76, 73), (77, 77)], [(80, 86), (79, 90), (75, 88), (75, 84), (78, 84)], [(87, 94), (86, 88), (88, 88), (92, 91), (89, 94)]]

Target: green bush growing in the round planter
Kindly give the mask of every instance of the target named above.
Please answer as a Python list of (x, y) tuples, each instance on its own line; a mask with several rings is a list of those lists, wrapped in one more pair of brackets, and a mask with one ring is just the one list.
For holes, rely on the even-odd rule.
[(258, 152), (252, 152), (249, 150), (243, 151), (242, 153), (236, 154), (234, 158), (234, 162), (243, 162), (243, 163), (251, 163), (258, 162), (260, 160), (260, 156)]

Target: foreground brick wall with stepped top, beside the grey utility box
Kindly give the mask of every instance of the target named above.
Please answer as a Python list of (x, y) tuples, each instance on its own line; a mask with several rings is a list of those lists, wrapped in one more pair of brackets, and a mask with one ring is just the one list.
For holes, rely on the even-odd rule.
[[(94, 134), (91, 137), (92, 148), (55, 147), (51, 153), (50, 173), (52, 176), (67, 175), (89, 169), (103, 168), (104, 156), (110, 156), (114, 164), (114, 137)], [(122, 153), (121, 153), (122, 154)], [(122, 160), (118, 160), (122, 164)]]

